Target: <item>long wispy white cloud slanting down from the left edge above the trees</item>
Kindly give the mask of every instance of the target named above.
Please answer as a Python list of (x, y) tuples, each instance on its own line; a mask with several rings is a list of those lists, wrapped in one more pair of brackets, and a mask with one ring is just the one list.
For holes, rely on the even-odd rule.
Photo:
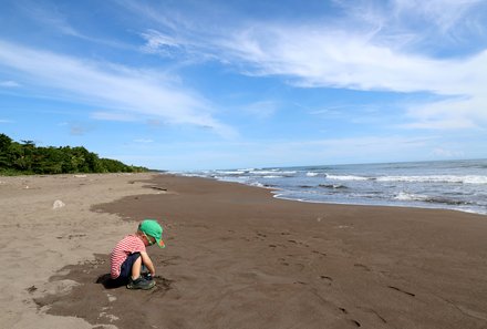
[[(14, 70), (22, 81), (43, 88), (51, 95), (62, 92), (115, 113), (209, 127), (225, 136), (236, 133), (213, 117), (207, 100), (175, 86), (174, 80), (158, 72), (90, 62), (3, 41), (0, 41), (0, 65)], [(108, 119), (106, 113), (104, 119)]]

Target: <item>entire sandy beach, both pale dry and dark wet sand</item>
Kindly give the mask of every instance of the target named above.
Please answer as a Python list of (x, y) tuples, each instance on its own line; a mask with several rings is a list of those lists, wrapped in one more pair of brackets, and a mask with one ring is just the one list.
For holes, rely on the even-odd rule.
[[(2, 328), (487, 327), (485, 215), (170, 174), (0, 177), (0, 212)], [(105, 288), (144, 218), (156, 288)]]

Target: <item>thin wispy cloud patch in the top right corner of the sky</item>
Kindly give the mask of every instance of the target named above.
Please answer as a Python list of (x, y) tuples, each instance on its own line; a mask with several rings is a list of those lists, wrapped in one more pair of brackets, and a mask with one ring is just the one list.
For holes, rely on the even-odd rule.
[(336, 0), (334, 3), (343, 9), (342, 27), (373, 30), (382, 42), (392, 41), (391, 45), (396, 48), (425, 50), (432, 43), (458, 42), (485, 32), (484, 0)]

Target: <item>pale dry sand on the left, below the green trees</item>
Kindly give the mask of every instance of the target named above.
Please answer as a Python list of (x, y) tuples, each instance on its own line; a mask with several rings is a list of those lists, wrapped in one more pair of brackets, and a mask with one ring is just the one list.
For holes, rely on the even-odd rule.
[(110, 253), (133, 229), (131, 223), (90, 207), (157, 193), (143, 188), (145, 183), (129, 184), (151, 176), (0, 176), (0, 328), (92, 328), (79, 318), (45, 315), (46, 308), (39, 309), (33, 298), (68, 292), (77, 282), (49, 278), (66, 265), (93, 260), (94, 253)]

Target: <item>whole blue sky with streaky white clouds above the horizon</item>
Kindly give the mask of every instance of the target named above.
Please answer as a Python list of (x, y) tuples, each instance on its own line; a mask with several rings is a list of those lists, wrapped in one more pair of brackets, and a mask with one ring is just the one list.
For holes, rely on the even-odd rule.
[(154, 169), (487, 158), (487, 0), (0, 0), (0, 133)]

